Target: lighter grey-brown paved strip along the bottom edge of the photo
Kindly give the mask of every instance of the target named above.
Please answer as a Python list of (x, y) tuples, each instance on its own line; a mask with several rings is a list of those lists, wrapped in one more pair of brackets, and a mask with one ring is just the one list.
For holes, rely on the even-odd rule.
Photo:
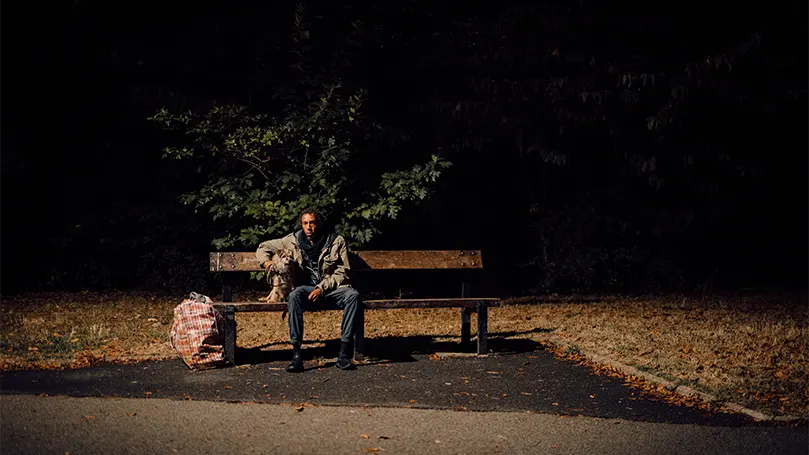
[[(805, 429), (518, 412), (0, 397), (6, 454), (805, 454)], [(367, 435), (368, 439), (364, 439)]]

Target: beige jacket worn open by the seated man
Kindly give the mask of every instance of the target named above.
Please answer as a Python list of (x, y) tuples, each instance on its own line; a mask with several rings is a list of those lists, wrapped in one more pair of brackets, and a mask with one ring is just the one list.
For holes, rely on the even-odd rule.
[[(259, 264), (270, 260), (273, 254), (281, 250), (289, 250), (295, 262), (303, 268), (303, 251), (295, 238), (295, 233), (289, 234), (280, 239), (267, 240), (262, 242), (256, 250), (256, 259)], [(350, 286), (348, 271), (351, 266), (348, 263), (348, 246), (341, 235), (334, 236), (330, 244), (323, 247), (317, 260), (318, 271), (320, 272), (320, 283), (315, 287), (320, 288), (327, 294), (340, 286)]]

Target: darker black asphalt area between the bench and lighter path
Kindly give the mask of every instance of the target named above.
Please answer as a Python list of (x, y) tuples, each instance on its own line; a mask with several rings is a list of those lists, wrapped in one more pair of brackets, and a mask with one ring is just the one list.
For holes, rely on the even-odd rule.
[[(286, 351), (280, 351), (284, 356)], [(288, 362), (247, 363), (191, 371), (179, 359), (77, 370), (0, 374), (3, 394), (169, 398), (259, 403), (365, 405), (468, 411), (530, 411), (645, 422), (715, 426), (764, 423), (732, 413), (708, 413), (645, 396), (624, 381), (594, 374), (538, 349), (488, 357), (410, 355), (341, 371), (309, 360), (290, 374)]]

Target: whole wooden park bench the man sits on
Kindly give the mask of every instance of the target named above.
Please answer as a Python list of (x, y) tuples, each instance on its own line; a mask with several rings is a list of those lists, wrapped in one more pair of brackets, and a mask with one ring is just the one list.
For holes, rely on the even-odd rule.
[[(462, 251), (357, 251), (349, 254), (351, 273), (373, 270), (438, 270), (438, 269), (482, 269), (483, 257), (477, 250)], [(211, 272), (261, 272), (262, 269), (253, 252), (210, 253)], [(224, 281), (224, 280), (223, 280)], [(358, 289), (362, 296), (362, 289)], [(477, 353), (488, 351), (488, 320), (490, 306), (500, 302), (499, 298), (472, 298), (469, 283), (461, 283), (459, 298), (424, 299), (383, 299), (365, 300), (364, 309), (388, 308), (461, 308), (461, 344), (470, 342), (470, 315), (477, 312), (478, 334)], [(236, 363), (236, 319), (238, 312), (284, 311), (287, 304), (264, 302), (233, 302), (230, 285), (222, 286), (222, 303), (214, 304), (225, 317), (225, 356), (231, 364)], [(365, 320), (360, 315), (360, 323), (355, 335), (355, 358), (365, 354)]]

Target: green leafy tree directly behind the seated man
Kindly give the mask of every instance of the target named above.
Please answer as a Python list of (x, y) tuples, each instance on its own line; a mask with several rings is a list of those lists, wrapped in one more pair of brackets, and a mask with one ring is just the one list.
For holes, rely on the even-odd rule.
[(432, 155), (391, 168), (384, 128), (363, 113), (367, 92), (342, 81), (360, 24), (353, 23), (338, 43), (343, 45), (325, 56), (310, 43), (313, 27), (299, 5), (286, 43), (288, 76), (266, 104), (214, 104), (179, 113), (163, 108), (150, 117), (185, 133), (164, 157), (190, 160), (207, 176), (181, 198), (226, 221), (225, 235), (213, 240), (217, 249), (254, 246), (288, 232), (309, 206), (331, 218), (351, 245), (365, 244), (383, 222), (425, 201), (450, 166)]

